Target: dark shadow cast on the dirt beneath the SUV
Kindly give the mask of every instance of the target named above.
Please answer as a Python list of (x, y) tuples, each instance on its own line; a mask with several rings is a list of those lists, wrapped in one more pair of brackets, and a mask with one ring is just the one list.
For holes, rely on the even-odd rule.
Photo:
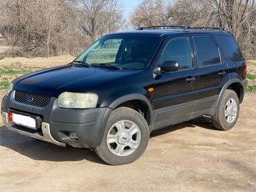
[[(153, 131), (150, 137), (157, 137), (158, 135), (177, 131), (181, 128), (196, 126), (215, 130), (208, 117), (200, 117), (190, 122), (184, 122)], [(87, 160), (98, 164), (106, 164), (100, 160), (91, 149), (74, 148), (72, 146), (56, 146), (55, 144), (35, 140), (31, 137), (12, 132), (8, 130), (6, 126), (0, 126), (0, 146), (10, 148), (33, 160), (45, 160), (51, 162), (75, 162)]]

